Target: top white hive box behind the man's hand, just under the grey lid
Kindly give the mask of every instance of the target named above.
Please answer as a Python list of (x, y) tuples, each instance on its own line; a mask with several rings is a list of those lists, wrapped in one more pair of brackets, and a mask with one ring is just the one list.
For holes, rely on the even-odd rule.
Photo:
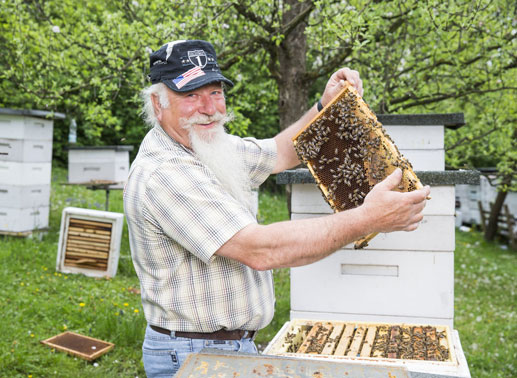
[[(433, 186), (431, 199), (426, 202), (424, 215), (454, 215), (454, 187)], [(298, 214), (333, 213), (316, 184), (293, 184), (291, 211)]]

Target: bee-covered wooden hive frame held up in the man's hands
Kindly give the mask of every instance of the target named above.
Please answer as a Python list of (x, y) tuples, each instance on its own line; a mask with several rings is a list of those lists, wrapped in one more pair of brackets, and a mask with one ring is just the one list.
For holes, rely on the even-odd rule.
[[(374, 185), (397, 167), (397, 190), (422, 188), (411, 163), (402, 156), (366, 102), (345, 82), (340, 93), (297, 135), (293, 143), (334, 212), (361, 205)], [(376, 234), (354, 243), (363, 248)]]

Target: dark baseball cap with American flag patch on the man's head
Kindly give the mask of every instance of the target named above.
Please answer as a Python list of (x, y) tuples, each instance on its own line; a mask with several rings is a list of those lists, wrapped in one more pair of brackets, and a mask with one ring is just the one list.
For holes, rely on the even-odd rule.
[(150, 55), (151, 83), (164, 83), (175, 92), (188, 92), (207, 84), (224, 82), (214, 47), (202, 40), (166, 43)]

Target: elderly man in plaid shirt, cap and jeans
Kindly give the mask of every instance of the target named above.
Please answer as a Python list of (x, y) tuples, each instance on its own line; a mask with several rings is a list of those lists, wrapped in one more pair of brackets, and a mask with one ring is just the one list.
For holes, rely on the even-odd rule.
[(318, 261), (372, 232), (414, 230), (429, 188), (392, 191), (400, 170), (364, 204), (320, 218), (257, 223), (251, 189), (299, 164), (291, 138), (339, 92), (345, 80), (362, 93), (356, 71), (329, 79), (306, 114), (275, 138), (228, 135), (224, 89), (233, 83), (212, 45), (167, 43), (150, 57), (143, 91), (152, 129), (124, 191), (131, 253), (148, 327), (143, 360), (149, 377), (170, 377), (203, 348), (256, 352), (253, 339), (274, 312), (271, 269)]

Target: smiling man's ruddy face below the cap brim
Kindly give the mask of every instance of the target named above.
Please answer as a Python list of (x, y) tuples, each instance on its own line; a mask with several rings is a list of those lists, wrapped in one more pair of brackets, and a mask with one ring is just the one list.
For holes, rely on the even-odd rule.
[(169, 107), (160, 108), (157, 117), (170, 136), (189, 148), (189, 129), (200, 135), (210, 133), (220, 125), (218, 120), (226, 115), (226, 100), (220, 83), (185, 93), (169, 90), (168, 97)]

